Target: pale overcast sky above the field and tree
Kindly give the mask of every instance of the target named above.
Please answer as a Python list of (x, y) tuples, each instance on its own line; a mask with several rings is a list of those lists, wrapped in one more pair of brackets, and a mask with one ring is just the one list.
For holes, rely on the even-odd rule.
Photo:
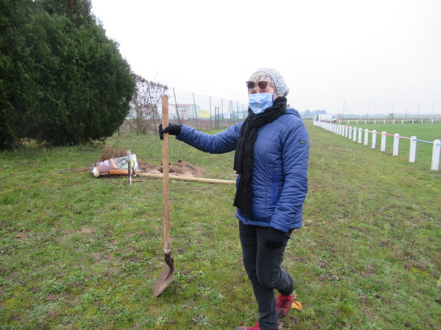
[(299, 111), (441, 113), (440, 0), (92, 0), (92, 12), (136, 74), (175, 89), (247, 103), (245, 81), (273, 67)]

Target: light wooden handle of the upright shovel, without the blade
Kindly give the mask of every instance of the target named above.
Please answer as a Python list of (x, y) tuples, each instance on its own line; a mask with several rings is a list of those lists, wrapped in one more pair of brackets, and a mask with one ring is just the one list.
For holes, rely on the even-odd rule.
[[(168, 126), (168, 96), (162, 96), (163, 129)], [(164, 252), (170, 254), (170, 208), (169, 208), (169, 159), (168, 133), (163, 136), (163, 206), (164, 206)]]

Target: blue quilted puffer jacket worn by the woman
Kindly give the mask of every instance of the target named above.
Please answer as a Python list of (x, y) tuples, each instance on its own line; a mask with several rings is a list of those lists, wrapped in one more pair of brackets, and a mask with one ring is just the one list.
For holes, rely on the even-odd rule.
[[(176, 138), (207, 153), (227, 153), (236, 150), (242, 124), (216, 135), (182, 125)], [(283, 232), (300, 228), (308, 188), (308, 157), (308, 133), (295, 109), (287, 109), (274, 122), (260, 126), (254, 144), (253, 215), (244, 217), (237, 209), (236, 217), (247, 225)]]

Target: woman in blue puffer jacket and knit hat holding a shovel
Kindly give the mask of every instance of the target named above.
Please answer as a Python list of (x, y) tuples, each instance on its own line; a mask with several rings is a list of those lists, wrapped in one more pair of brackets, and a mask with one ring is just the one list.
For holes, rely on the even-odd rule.
[[(294, 229), (302, 226), (307, 193), (309, 138), (295, 109), (287, 108), (287, 87), (274, 69), (260, 68), (247, 81), (248, 117), (216, 135), (170, 124), (163, 133), (207, 153), (235, 151), (238, 173), (234, 206), (239, 220), (243, 265), (252, 283), (260, 318), (254, 327), (276, 330), (294, 303), (294, 283), (281, 267)], [(279, 294), (276, 299), (274, 289)]]

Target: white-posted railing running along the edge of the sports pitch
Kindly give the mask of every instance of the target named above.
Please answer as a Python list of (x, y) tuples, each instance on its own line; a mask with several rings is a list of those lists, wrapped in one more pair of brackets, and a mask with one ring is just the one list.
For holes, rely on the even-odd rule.
[[(398, 156), (399, 153), (399, 146), (400, 146), (400, 139), (409, 140), (410, 146), (409, 146), (409, 162), (414, 163), (416, 162), (416, 148), (417, 148), (417, 142), (422, 143), (428, 143), (433, 144), (433, 151), (432, 151), (432, 164), (431, 164), (431, 170), (439, 170), (440, 169), (440, 151), (441, 151), (441, 141), (435, 140), (433, 142), (430, 141), (424, 141), (424, 140), (418, 140), (416, 136), (411, 137), (404, 137), (400, 136), (400, 134), (388, 134), (384, 131), (377, 132), (375, 129), (373, 131), (369, 131), (368, 129), (362, 129), (361, 127), (352, 127), (342, 124), (334, 124), (330, 122), (318, 122), (314, 120), (314, 125), (322, 127), (322, 129), (327, 129), (328, 131), (331, 131), (332, 133), (336, 133), (338, 135), (341, 135), (343, 137), (347, 137), (349, 140), (353, 140), (354, 142), (358, 142), (359, 144), (364, 142), (365, 146), (369, 144), (369, 133), (371, 133), (371, 148), (375, 149), (377, 145), (377, 135), (381, 135), (381, 142), (380, 142), (380, 151), (384, 152), (386, 151), (386, 138), (387, 136), (393, 137), (393, 153), (392, 155)], [(364, 133), (364, 139), (362, 137)]]

